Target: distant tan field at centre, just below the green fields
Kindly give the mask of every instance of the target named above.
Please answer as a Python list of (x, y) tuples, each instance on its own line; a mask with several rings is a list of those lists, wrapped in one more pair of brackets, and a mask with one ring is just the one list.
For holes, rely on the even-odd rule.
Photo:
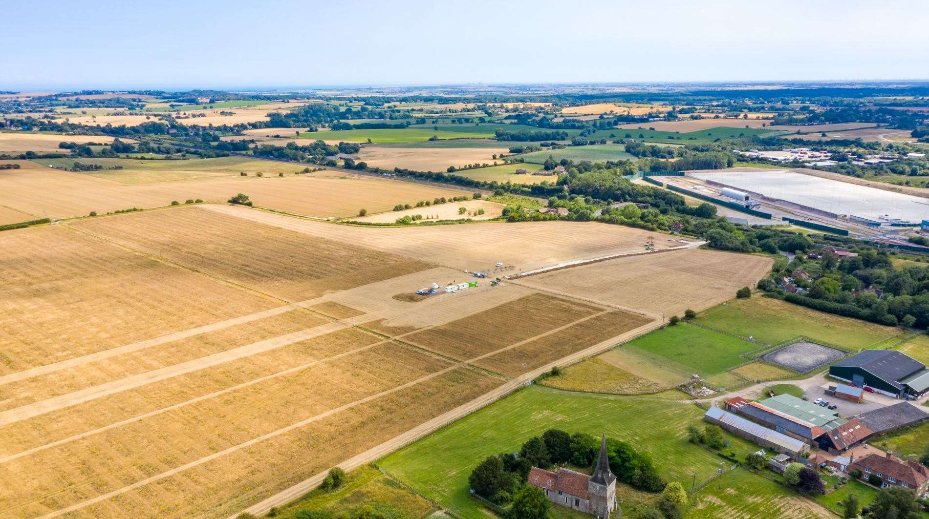
[(449, 166), (460, 168), (467, 164), (489, 163), (493, 155), (509, 153), (508, 148), (386, 148), (364, 146), (360, 160), (369, 166), (392, 170), (395, 167), (416, 171), (445, 171)]

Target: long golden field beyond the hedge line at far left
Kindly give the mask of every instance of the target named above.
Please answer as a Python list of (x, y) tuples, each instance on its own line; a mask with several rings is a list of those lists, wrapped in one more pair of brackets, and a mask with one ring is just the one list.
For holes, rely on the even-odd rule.
[[(229, 160), (230, 159), (230, 160)], [(41, 161), (41, 160), (40, 160)], [(342, 217), (358, 214), (360, 209), (371, 213), (389, 211), (398, 203), (415, 203), (436, 197), (455, 197), (469, 194), (456, 188), (434, 188), (414, 182), (404, 182), (374, 175), (353, 175), (320, 171), (292, 175), (299, 171), (296, 165), (257, 161), (242, 158), (203, 159), (177, 161), (177, 167), (190, 170), (190, 175), (217, 175), (227, 166), (207, 166), (206, 162), (229, 162), (229, 173), (179, 182), (142, 182), (125, 184), (111, 178), (38, 168), (0, 170), (0, 206), (28, 214), (47, 214), (51, 218), (86, 215), (91, 211), (103, 214), (129, 207), (159, 207), (171, 201), (203, 199), (227, 201), (236, 193), (249, 195), (255, 205), (279, 211), (316, 216)], [(12, 161), (10, 161), (12, 162)], [(156, 161), (152, 161), (156, 162)], [(188, 175), (164, 169), (162, 164), (147, 170), (135, 169), (97, 172), (113, 178), (133, 182), (152, 176)], [(172, 161), (174, 162), (174, 161)], [(216, 163), (220, 163), (216, 162)], [(4, 161), (7, 163), (7, 161)], [(191, 166), (196, 166), (193, 169)], [(276, 175), (257, 178), (255, 175), (235, 176), (242, 170), (275, 171), (281, 167), (288, 176)], [(281, 171), (283, 173), (283, 171)]]

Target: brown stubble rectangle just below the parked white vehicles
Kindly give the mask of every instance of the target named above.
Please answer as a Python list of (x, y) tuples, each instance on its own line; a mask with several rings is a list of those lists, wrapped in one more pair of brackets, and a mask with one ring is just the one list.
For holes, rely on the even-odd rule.
[(525, 341), (598, 311), (600, 309), (591, 305), (531, 294), (442, 326), (417, 331), (403, 337), (403, 341), (467, 360)]

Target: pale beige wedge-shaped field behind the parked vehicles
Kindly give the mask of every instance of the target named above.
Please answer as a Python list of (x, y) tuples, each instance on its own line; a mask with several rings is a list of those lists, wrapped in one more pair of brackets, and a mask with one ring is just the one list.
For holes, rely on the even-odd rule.
[[(199, 211), (234, 215), (302, 234), (356, 244), (451, 268), (514, 275), (566, 262), (644, 251), (648, 237), (659, 250), (680, 247), (666, 234), (593, 222), (482, 223), (435, 227), (347, 227), (241, 207), (204, 205)], [(741, 257), (741, 256), (738, 256)], [(496, 267), (496, 263), (504, 266)]]

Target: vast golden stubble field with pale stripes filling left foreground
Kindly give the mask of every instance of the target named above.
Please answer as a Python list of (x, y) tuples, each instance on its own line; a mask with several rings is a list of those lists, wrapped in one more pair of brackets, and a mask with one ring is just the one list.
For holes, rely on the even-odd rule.
[(0, 234), (16, 251), (0, 261), (0, 351), (15, 353), (0, 371), (0, 515), (229, 516), (527, 370), (653, 326), (505, 281), (394, 297), (473, 279), (431, 261), (468, 247), (451, 247), (453, 228), (499, 251), (538, 241), (518, 251), (536, 262), (622, 248), (635, 229), (375, 239), (402, 229), (317, 223), (338, 230), (322, 236), (230, 210)]

